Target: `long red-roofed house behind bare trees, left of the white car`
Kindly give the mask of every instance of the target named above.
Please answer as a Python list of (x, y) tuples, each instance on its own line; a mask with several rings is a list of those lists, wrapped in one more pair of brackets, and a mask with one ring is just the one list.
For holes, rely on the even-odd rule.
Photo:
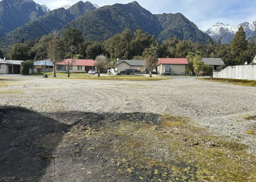
[(94, 62), (95, 61), (92, 59), (75, 59), (74, 63), (72, 63), (72, 59), (65, 59), (62, 62), (56, 64), (56, 70), (67, 70), (67, 65), (72, 63), (72, 65), (69, 66), (69, 72), (88, 73), (89, 70), (95, 70)]

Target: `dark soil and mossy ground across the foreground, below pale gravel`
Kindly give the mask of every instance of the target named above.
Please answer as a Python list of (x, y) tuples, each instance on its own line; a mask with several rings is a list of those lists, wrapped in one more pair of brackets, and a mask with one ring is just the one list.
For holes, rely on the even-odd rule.
[(253, 181), (246, 146), (187, 118), (0, 107), (0, 181)]

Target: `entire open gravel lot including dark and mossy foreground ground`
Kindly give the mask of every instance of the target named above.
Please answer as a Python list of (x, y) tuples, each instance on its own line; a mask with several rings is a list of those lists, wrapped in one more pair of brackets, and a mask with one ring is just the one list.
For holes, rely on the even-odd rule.
[(255, 181), (255, 96), (196, 77), (0, 75), (0, 181)]

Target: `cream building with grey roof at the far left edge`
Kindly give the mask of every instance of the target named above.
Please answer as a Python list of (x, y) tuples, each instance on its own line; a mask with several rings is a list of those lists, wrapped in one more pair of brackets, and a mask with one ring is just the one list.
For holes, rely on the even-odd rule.
[(22, 60), (5, 60), (0, 58), (0, 74), (20, 74)]

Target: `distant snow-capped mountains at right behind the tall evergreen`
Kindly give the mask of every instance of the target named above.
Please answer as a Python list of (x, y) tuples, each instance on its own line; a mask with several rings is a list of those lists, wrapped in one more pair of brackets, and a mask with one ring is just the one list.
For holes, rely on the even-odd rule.
[(242, 26), (244, 28), (246, 38), (256, 36), (256, 21), (244, 22), (238, 25), (224, 25), (223, 23), (217, 23), (209, 28), (206, 33), (213, 39), (217, 40), (222, 37), (221, 42), (223, 44), (230, 43), (238, 28)]

